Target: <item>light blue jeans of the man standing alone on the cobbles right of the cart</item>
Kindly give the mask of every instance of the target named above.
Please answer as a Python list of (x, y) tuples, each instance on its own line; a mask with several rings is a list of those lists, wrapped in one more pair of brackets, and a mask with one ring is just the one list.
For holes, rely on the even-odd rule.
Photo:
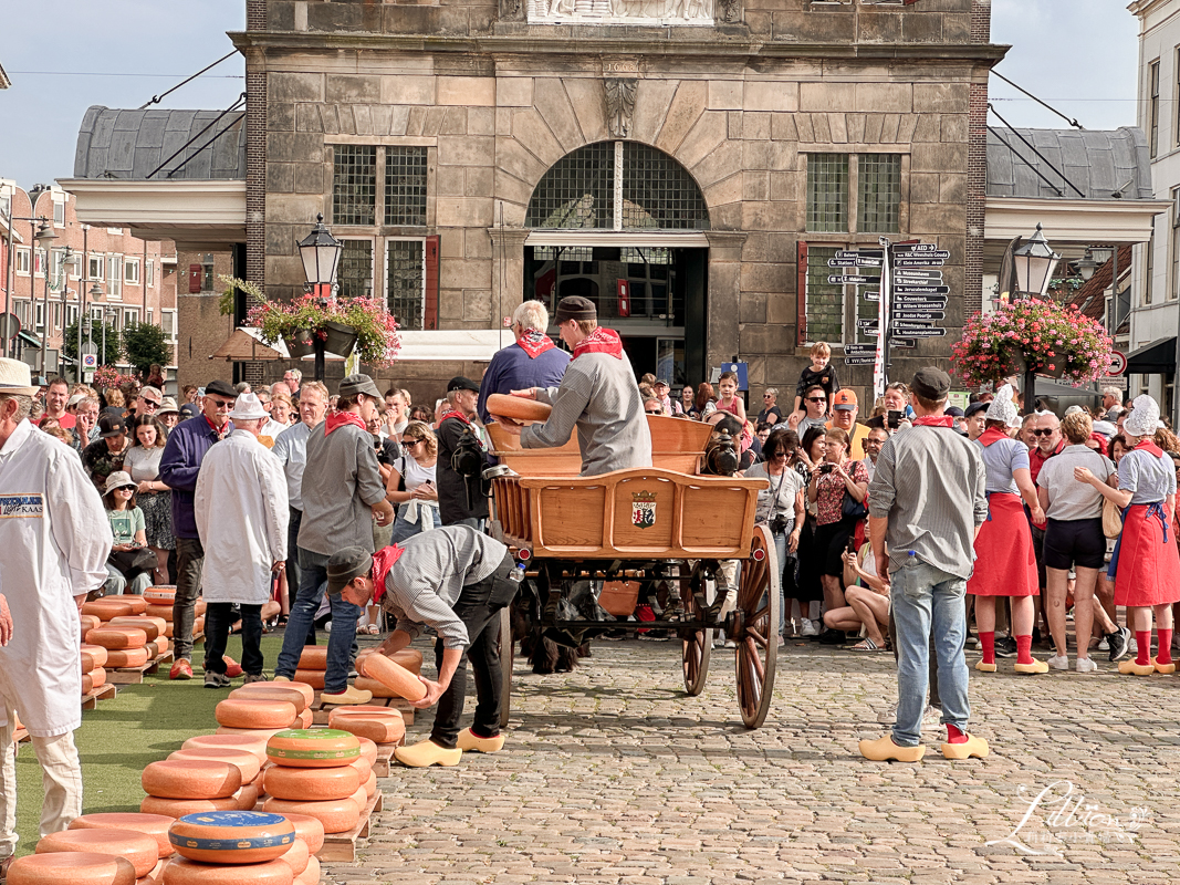
[[(904, 555), (898, 551), (894, 556)], [(966, 730), (971, 715), (968, 669), (963, 657), (966, 642), (966, 581), (909, 557), (892, 575), (890, 599), (897, 623), (897, 721), (893, 741), (916, 747), (922, 738), (922, 714), (930, 681), (930, 638), (933, 630), (938, 657), (938, 694), (943, 723)]]

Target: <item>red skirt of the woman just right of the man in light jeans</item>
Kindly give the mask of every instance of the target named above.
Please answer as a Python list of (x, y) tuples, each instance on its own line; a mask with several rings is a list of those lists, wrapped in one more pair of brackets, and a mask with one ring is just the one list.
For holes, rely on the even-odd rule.
[(1038, 596), (1032, 532), (1021, 497), (992, 492), (988, 513), (975, 539), (975, 572), (966, 591), (972, 596)]

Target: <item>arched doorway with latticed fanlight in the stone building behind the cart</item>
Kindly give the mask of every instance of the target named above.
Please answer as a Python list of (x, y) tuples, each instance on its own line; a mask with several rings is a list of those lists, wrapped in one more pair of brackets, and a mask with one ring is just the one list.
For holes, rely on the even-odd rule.
[(709, 212), (688, 171), (637, 142), (596, 142), (545, 172), (529, 201), (525, 297), (598, 307), (638, 374), (706, 378)]

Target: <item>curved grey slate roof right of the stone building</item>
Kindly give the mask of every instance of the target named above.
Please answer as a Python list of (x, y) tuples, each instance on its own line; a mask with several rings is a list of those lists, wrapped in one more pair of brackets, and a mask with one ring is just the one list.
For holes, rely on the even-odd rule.
[[(1037, 157), (1017, 137), (1017, 132), (1030, 142), (1044, 159)], [(1040, 178), (1030, 165), (1041, 172), (1048, 183)], [(1067, 178), (1081, 195), (1069, 186)], [(988, 130), (989, 197), (1110, 199), (1120, 189), (1125, 199), (1153, 199), (1155, 196), (1152, 190), (1147, 138), (1141, 129), (1125, 126), (1113, 131), (1010, 130), (992, 126)]]

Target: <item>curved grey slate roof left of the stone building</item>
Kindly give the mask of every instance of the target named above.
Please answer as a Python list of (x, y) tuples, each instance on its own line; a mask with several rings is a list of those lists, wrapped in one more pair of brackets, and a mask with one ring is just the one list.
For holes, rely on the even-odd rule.
[[(120, 111), (94, 105), (86, 111), (78, 132), (74, 178), (144, 181), (194, 139), (165, 169), (152, 176), (152, 181), (245, 181), (243, 112), (244, 109), (230, 111), (198, 135), (221, 111)], [(242, 119), (237, 119), (240, 114)], [(224, 135), (202, 148), (222, 130)], [(189, 157), (192, 158), (181, 166)], [(169, 171), (178, 166), (179, 171), (169, 178)]]

